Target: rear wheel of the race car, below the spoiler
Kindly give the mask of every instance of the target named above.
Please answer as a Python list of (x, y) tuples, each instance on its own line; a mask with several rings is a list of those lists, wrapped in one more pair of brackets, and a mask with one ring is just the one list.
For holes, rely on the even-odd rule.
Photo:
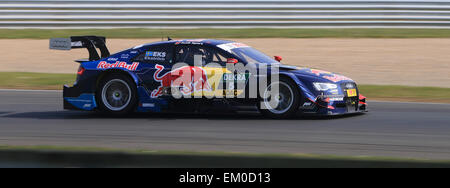
[(133, 80), (123, 74), (105, 76), (98, 85), (96, 99), (101, 112), (125, 115), (135, 110), (138, 97)]

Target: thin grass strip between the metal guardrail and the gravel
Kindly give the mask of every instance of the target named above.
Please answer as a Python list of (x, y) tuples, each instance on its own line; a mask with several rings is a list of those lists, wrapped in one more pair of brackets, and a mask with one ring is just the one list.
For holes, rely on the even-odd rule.
[(107, 38), (449, 38), (450, 29), (0, 29), (0, 39), (77, 35)]

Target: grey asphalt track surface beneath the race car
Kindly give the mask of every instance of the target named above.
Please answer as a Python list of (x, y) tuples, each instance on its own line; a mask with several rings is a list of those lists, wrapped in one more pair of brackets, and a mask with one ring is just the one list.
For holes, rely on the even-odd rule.
[(370, 102), (335, 118), (64, 111), (56, 91), (0, 90), (0, 145), (450, 159), (450, 105)]

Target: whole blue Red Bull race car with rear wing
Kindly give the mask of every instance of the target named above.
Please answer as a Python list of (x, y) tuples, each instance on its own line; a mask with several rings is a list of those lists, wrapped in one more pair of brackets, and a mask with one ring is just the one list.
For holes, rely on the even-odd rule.
[[(259, 111), (271, 118), (367, 111), (366, 98), (350, 78), (283, 65), (281, 57), (270, 58), (242, 43), (169, 38), (110, 55), (105, 37), (50, 39), (50, 49), (75, 48), (86, 48), (89, 58), (76, 61), (78, 77), (73, 87), (64, 86), (64, 109), (109, 114)], [(237, 63), (267, 70), (227, 68)], [(275, 86), (276, 93), (268, 94)]]

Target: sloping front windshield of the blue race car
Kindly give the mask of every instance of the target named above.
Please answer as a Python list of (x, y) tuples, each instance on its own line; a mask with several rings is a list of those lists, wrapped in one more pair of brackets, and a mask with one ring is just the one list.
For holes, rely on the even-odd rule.
[(239, 57), (245, 63), (263, 63), (263, 64), (278, 64), (273, 58), (267, 56), (266, 54), (241, 43), (228, 43), (219, 45), (225, 51), (232, 53), (233, 55)]

